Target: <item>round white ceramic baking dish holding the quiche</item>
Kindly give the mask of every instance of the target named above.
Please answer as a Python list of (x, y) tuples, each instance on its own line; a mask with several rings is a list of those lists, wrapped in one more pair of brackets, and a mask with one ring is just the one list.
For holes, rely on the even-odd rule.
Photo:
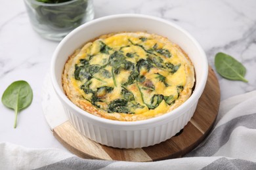
[[(147, 31), (167, 37), (188, 54), (196, 72), (196, 87), (190, 98), (177, 109), (148, 120), (121, 122), (100, 118), (80, 109), (66, 97), (62, 89), (62, 71), (68, 56), (85, 42), (106, 33)], [(97, 143), (117, 148), (141, 148), (165, 141), (178, 133), (192, 118), (203, 92), (208, 63), (202, 47), (181, 27), (152, 16), (119, 14), (98, 18), (77, 27), (58, 44), (51, 61), (54, 90), (64, 105), (74, 127)]]

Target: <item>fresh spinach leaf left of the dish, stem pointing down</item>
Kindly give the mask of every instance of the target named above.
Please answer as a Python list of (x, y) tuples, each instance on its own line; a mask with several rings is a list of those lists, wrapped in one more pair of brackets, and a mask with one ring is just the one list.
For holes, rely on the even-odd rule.
[(14, 128), (16, 128), (18, 112), (30, 106), (33, 92), (30, 84), (24, 80), (12, 82), (3, 92), (2, 103), (15, 111)]

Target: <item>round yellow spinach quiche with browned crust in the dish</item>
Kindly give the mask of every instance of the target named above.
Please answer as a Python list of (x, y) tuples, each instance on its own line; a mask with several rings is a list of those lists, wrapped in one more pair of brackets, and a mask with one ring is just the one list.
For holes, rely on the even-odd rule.
[(102, 35), (66, 61), (62, 84), (81, 109), (110, 120), (171, 114), (190, 97), (194, 67), (173, 42), (145, 32)]

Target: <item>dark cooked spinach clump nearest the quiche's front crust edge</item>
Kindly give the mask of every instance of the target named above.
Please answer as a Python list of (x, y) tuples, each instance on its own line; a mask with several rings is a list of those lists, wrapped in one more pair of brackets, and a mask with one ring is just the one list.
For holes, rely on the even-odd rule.
[(115, 99), (108, 105), (108, 112), (132, 113), (127, 108), (128, 101), (125, 99)]

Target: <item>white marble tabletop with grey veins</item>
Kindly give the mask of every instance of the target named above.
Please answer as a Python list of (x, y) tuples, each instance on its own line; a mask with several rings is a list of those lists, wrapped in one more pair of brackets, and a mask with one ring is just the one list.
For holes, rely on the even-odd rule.
[[(20, 112), (13, 128), (14, 112), (0, 104), (0, 142), (30, 148), (65, 149), (53, 137), (43, 116), (41, 88), (58, 42), (47, 41), (33, 31), (21, 0), (1, 0), (0, 96), (15, 80), (26, 80), (33, 89), (33, 103)], [(221, 99), (256, 90), (255, 0), (95, 0), (95, 18), (110, 14), (139, 13), (165, 18), (180, 25), (202, 44), (214, 69), (217, 52), (225, 52), (247, 68), (248, 83), (218, 75)]]

